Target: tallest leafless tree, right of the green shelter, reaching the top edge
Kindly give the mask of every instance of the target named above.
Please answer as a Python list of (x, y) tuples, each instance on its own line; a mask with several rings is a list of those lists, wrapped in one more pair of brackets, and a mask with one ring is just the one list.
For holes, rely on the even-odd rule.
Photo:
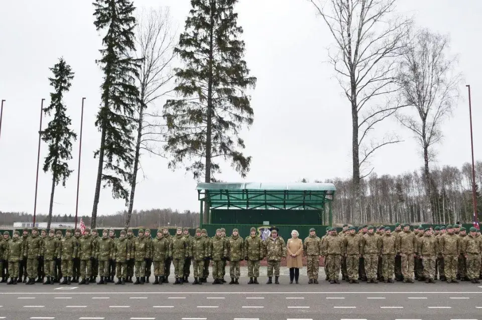
[[(375, 126), (399, 105), (384, 102), (394, 93), (396, 59), (412, 20), (394, 14), (396, 0), (308, 0), (335, 40), (329, 61), (350, 102), (352, 120), (354, 222), (360, 221), (360, 180), (367, 177), (370, 157), (387, 144), (400, 142), (395, 133), (370, 139)], [(360, 154), (361, 152), (361, 154)], [(363, 173), (364, 170), (369, 170)]]

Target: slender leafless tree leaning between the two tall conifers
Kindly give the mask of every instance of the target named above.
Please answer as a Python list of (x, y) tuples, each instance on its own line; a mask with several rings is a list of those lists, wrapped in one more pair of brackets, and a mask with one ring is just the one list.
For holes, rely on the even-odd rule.
[[(169, 9), (151, 9), (143, 11), (138, 18), (137, 26), (137, 58), (143, 59), (140, 65), (137, 83), (140, 99), (137, 105), (137, 139), (134, 166), (132, 172), (131, 194), (129, 197), (129, 210), (126, 215), (125, 227), (131, 222), (136, 192), (137, 174), (140, 167), (142, 150), (156, 155), (162, 155), (161, 148), (157, 145), (163, 142), (165, 124), (162, 115), (155, 109), (157, 99), (168, 94), (171, 89), (168, 84), (173, 78), (171, 69), (174, 54), (174, 33)], [(148, 106), (154, 109), (147, 113)]]

